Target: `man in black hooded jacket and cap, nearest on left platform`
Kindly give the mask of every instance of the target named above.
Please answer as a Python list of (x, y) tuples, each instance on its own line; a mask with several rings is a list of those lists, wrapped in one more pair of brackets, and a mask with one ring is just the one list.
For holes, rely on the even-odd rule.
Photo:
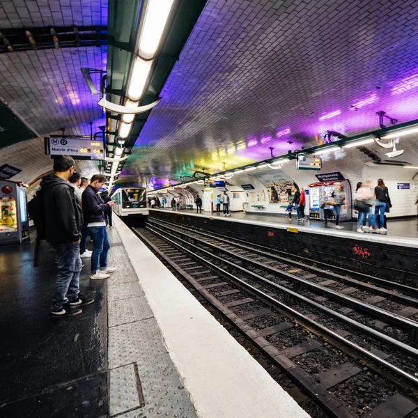
[(82, 313), (80, 306), (93, 303), (79, 293), (82, 261), (79, 243), (83, 216), (68, 179), (74, 172), (74, 160), (68, 155), (54, 159), (54, 173), (42, 178), (45, 229), (47, 241), (54, 247), (58, 259), (56, 286), (51, 316), (63, 318)]

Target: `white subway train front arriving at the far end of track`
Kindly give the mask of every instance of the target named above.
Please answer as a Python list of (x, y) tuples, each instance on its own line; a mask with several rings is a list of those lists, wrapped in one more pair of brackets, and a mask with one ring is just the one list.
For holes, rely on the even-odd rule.
[(125, 223), (144, 223), (148, 219), (149, 210), (144, 187), (121, 187), (111, 195), (111, 199), (116, 203), (113, 207), (114, 212)]

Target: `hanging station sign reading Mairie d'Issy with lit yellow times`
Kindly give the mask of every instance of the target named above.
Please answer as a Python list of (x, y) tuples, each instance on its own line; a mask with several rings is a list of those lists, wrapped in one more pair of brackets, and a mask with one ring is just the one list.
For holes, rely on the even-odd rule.
[(104, 143), (84, 138), (45, 138), (46, 155), (70, 155), (75, 160), (104, 160)]

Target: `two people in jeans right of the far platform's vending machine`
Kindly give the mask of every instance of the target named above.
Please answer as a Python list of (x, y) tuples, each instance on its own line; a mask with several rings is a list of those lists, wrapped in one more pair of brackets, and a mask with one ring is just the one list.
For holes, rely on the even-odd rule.
[[(392, 208), (389, 189), (385, 186), (382, 178), (378, 179), (378, 185), (374, 188), (374, 196), (371, 193), (371, 183), (366, 180), (364, 183), (357, 183), (354, 208), (358, 212), (357, 232), (385, 233), (385, 212)], [(374, 199), (373, 199), (374, 198)], [(374, 214), (371, 215), (371, 208), (375, 206)], [(369, 225), (366, 225), (366, 223)]]

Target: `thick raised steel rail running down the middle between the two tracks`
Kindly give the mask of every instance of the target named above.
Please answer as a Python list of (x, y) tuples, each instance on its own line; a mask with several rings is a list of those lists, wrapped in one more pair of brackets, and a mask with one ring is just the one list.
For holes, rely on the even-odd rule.
[(386, 311), (385, 309), (374, 307), (371, 304), (367, 304), (365, 302), (362, 302), (361, 300), (357, 300), (354, 297), (350, 297), (348, 295), (343, 295), (341, 293), (333, 291), (332, 289), (326, 288), (325, 286), (321, 286), (320, 284), (312, 283), (311, 281), (302, 279), (301, 277), (297, 277), (294, 274), (284, 272), (283, 270), (279, 270), (278, 268), (271, 267), (270, 265), (265, 265), (258, 261), (252, 260), (251, 258), (248, 258), (246, 256), (235, 254), (233, 251), (220, 248), (215, 244), (211, 244), (210, 242), (205, 242), (203, 240), (199, 240), (199, 238), (190, 237), (189, 235), (186, 235), (186, 233), (175, 231), (173, 229), (171, 229), (171, 231), (174, 231), (175, 233), (179, 233), (181, 235), (185, 235), (187, 236), (187, 238), (195, 240), (196, 242), (201, 242), (203, 245), (206, 245), (212, 248), (214, 251), (217, 251), (218, 253), (220, 252), (220, 253), (238, 258), (240, 261), (242, 261), (242, 263), (246, 263), (247, 265), (253, 265), (256, 268), (267, 270), (268, 272), (277, 274), (280, 277), (283, 277), (284, 279), (293, 281), (293, 284), (298, 284), (299, 286), (302, 285), (305, 288), (309, 288), (311, 291), (314, 291), (315, 293), (326, 295), (330, 299), (338, 300), (339, 302), (342, 302), (343, 304), (346, 304), (351, 307), (355, 307), (359, 311), (365, 311), (367, 314), (372, 315), (376, 318), (379, 318), (379, 319), (385, 318), (385, 320), (388, 323), (392, 323), (394, 325), (397, 325), (398, 327), (403, 327), (406, 330), (408, 330), (411, 340), (416, 341), (418, 339), (418, 323), (415, 320), (405, 318), (398, 314), (394, 314), (393, 312)]

